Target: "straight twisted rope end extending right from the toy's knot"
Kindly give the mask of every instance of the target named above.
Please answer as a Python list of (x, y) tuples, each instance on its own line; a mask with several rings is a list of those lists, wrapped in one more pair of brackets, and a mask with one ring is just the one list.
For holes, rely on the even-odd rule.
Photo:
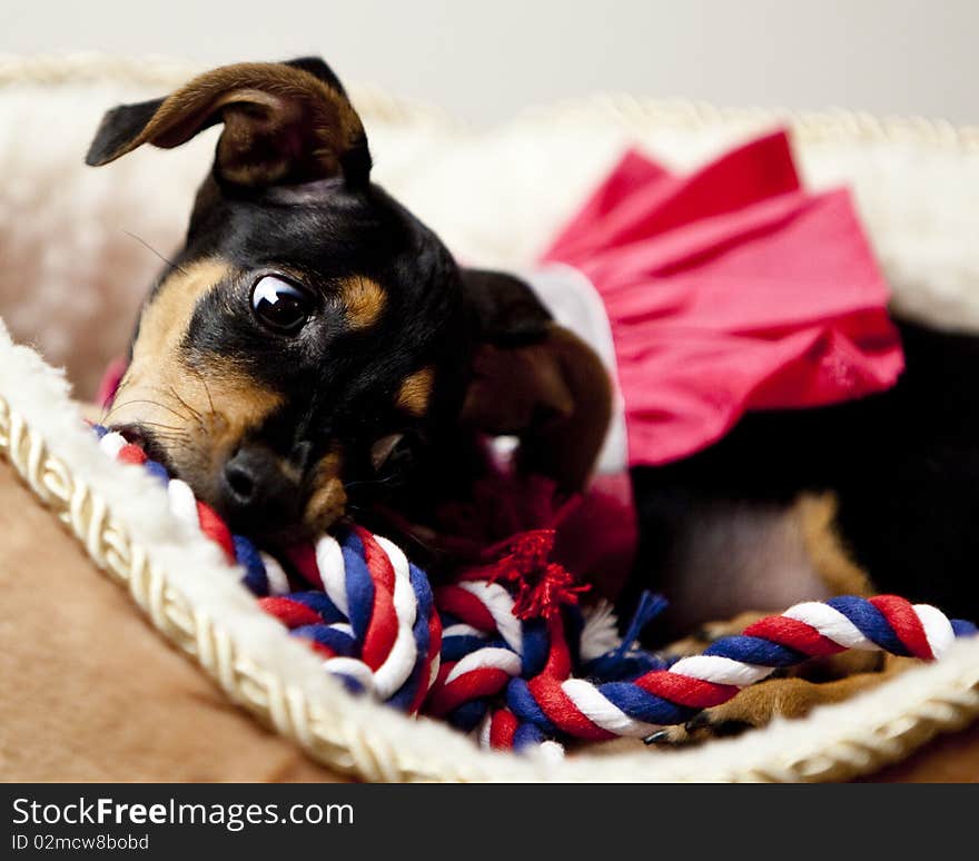
[(555, 671), (515, 679), (506, 706), (492, 719), (491, 740), (494, 746), (520, 746), (524, 726), (551, 738), (647, 738), (810, 657), (860, 649), (933, 661), (957, 636), (975, 633), (968, 622), (949, 621), (930, 605), (896, 595), (805, 602), (755, 622), (741, 635), (718, 640), (703, 654), (633, 679), (576, 679), (557, 662)]

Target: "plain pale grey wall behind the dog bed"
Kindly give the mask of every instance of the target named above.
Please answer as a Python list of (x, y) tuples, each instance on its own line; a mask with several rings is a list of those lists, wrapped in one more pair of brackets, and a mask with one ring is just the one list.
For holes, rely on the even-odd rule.
[(486, 123), (589, 93), (979, 122), (979, 0), (0, 0), (0, 52), (320, 53)]

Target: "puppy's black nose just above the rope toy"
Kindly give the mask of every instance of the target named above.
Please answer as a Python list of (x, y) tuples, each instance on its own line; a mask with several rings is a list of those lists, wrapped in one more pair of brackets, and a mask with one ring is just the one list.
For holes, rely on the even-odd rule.
[(218, 508), (240, 531), (288, 525), (298, 511), (298, 482), (270, 449), (244, 445), (225, 464)]

